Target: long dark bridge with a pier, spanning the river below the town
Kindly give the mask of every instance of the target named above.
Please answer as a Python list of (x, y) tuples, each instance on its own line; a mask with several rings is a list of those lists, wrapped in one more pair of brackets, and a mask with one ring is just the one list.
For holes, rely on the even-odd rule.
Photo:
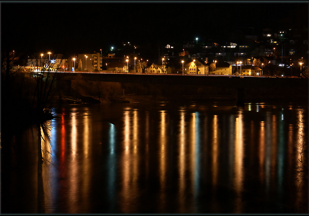
[[(54, 73), (53, 73), (54, 74)], [(244, 99), (243, 90), (247, 88), (284, 87), (308, 88), (306, 78), (286, 77), (249, 77), (229, 75), (189, 75), (189, 74), (126, 74), (126, 73), (100, 73), (100, 72), (57, 72), (62, 80), (75, 80), (80, 75), (80, 80), (119, 82), (119, 83), (150, 83), (167, 85), (195, 85), (210, 87), (227, 87), (237, 89), (237, 100)]]

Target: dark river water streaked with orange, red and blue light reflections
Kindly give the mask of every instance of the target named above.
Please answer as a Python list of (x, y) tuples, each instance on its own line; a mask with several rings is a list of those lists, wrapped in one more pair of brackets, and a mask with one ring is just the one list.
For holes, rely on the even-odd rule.
[[(307, 209), (305, 108), (252, 103), (243, 108), (194, 103), (76, 105), (62, 108), (59, 118), (45, 126), (40, 200), (45, 213)], [(28, 133), (26, 137), (35, 130)], [(26, 144), (36, 141), (28, 139)], [(29, 164), (37, 161), (23, 157)], [(38, 189), (35, 175), (32, 171), (22, 177)], [(41, 202), (30, 199), (36, 204), (19, 203), (20, 211), (37, 213)]]

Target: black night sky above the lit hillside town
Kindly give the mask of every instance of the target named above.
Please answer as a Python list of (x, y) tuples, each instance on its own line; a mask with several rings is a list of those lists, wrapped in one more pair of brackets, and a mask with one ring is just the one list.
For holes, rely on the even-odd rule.
[(305, 3), (1, 3), (1, 44), (10, 49), (92, 53), (160, 42), (224, 40), (241, 27), (308, 26)]

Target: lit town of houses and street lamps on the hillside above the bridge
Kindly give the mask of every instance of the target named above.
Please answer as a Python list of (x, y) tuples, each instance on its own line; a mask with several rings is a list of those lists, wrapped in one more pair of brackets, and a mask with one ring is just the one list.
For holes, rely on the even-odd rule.
[[(306, 31), (263, 29), (259, 35), (241, 38), (234, 43), (196, 37), (156, 48), (122, 42), (103, 52), (99, 49), (72, 57), (47, 51), (28, 56), (24, 69), (38, 71), (48, 63), (51, 70), (67, 72), (308, 77)], [(43, 59), (48, 59), (44, 65)]]

